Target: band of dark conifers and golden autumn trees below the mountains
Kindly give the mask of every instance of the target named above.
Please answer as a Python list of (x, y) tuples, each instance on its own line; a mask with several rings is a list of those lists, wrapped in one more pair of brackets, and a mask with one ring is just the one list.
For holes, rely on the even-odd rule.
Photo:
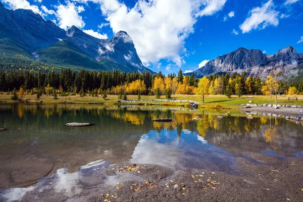
[[(274, 78), (262, 81), (259, 76), (252, 77), (243, 74), (210, 75), (207, 78), (207, 86), (204, 86), (203, 94), (225, 94), (226, 96), (237, 94), (269, 94), (273, 90)], [(200, 94), (201, 86), (199, 79), (184, 76), (182, 71), (178, 75), (150, 74), (149, 72), (125, 73), (118, 70), (113, 72), (96, 72), (81, 70), (80, 72), (70, 69), (61, 72), (24, 72), (10, 71), (0, 72), (0, 91), (12, 91), (14, 88), (23, 87), (26, 91), (48, 93), (47, 89), (57, 89), (59, 93), (91, 93), (94, 94), (107, 91), (112, 94)], [(278, 93), (286, 94), (303, 93), (303, 81), (286, 82), (276, 81)], [(290, 88), (292, 87), (292, 88)], [(50, 93), (48, 93), (50, 94)], [(92, 94), (92, 93), (91, 93)]]

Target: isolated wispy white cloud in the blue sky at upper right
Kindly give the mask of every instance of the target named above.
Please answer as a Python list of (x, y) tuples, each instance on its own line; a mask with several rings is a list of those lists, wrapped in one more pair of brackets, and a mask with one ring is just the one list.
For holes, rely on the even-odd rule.
[(250, 32), (252, 29), (265, 29), (269, 25), (278, 26), (279, 12), (275, 11), (275, 5), (269, 0), (262, 7), (249, 11), (249, 17), (240, 25), (242, 33)]

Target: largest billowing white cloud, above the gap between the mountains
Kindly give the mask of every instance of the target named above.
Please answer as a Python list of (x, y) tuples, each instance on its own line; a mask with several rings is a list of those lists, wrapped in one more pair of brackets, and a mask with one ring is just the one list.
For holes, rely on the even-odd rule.
[(194, 31), (197, 19), (222, 10), (226, 0), (138, 0), (132, 8), (118, 0), (74, 2), (98, 3), (113, 32), (123, 30), (131, 36), (146, 66), (161, 59), (181, 66), (185, 63), (184, 40)]

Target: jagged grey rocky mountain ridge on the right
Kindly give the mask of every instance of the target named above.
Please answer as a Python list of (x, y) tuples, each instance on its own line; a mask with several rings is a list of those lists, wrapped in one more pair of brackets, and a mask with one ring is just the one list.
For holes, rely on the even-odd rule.
[(248, 75), (259, 75), (262, 79), (265, 79), (276, 70), (284, 75), (294, 71), (300, 72), (302, 68), (298, 65), (302, 64), (303, 54), (297, 54), (291, 46), (280, 49), (274, 55), (265, 55), (260, 49), (241, 47), (234, 52), (209, 61), (204, 67), (195, 70), (193, 73), (195, 77), (200, 78), (210, 74), (242, 73), (246, 71)]

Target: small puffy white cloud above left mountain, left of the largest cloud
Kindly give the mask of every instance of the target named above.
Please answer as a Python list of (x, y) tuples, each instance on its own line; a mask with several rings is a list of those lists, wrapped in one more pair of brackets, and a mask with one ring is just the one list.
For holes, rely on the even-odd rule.
[(62, 29), (67, 30), (73, 25), (80, 29), (85, 26), (85, 22), (79, 15), (79, 13), (84, 11), (83, 6), (76, 6), (74, 3), (66, 2), (66, 5), (60, 4), (55, 6), (55, 8), (57, 9), (56, 17), (59, 21), (59, 27)]

